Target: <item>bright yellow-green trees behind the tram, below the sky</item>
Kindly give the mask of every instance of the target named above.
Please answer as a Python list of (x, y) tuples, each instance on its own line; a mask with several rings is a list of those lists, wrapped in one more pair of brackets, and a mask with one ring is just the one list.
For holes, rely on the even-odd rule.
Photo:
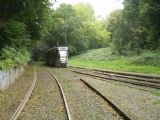
[(88, 49), (107, 46), (110, 33), (102, 21), (97, 21), (89, 4), (62, 4), (53, 13), (53, 27), (47, 44), (52, 47), (69, 46), (70, 55), (82, 53)]

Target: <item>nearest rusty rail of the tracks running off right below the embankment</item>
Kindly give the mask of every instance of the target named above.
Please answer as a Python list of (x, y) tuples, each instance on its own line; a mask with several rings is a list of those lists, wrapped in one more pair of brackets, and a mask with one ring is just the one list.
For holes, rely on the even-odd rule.
[[(99, 75), (93, 75), (90, 73), (84, 73), (84, 72), (79, 72), (79, 71), (73, 71), (75, 73), (78, 74), (84, 74), (84, 75), (88, 75), (88, 76), (93, 76), (93, 77), (97, 77), (97, 78), (103, 78), (103, 79), (107, 79), (107, 80), (113, 80), (113, 81), (118, 81), (118, 82), (123, 82), (123, 83), (128, 83), (128, 84), (133, 84), (133, 85), (137, 85), (137, 86), (143, 86), (143, 87), (150, 87), (150, 88), (154, 88), (154, 89), (160, 89), (160, 86), (157, 85), (151, 85), (151, 84), (146, 84), (146, 83), (140, 83), (140, 82), (133, 82), (132, 81), (126, 81), (126, 80), (119, 80), (119, 79), (115, 79), (115, 78), (110, 78), (110, 77), (104, 77), (104, 76), (99, 76)], [(104, 80), (103, 80), (104, 81)]]

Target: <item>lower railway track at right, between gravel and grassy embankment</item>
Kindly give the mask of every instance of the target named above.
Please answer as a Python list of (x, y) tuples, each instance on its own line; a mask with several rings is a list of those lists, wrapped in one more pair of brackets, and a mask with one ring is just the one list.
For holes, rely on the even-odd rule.
[(78, 74), (88, 75), (92, 77), (112, 80), (112, 81), (118, 81), (123, 82), (127, 84), (132, 84), (136, 86), (143, 86), (143, 87), (149, 87), (154, 89), (160, 89), (160, 82), (158, 80), (151, 80), (151, 79), (145, 79), (145, 78), (138, 78), (138, 77), (132, 77), (132, 76), (124, 76), (124, 75), (117, 75), (117, 74), (109, 74), (109, 73), (103, 73), (103, 72), (80, 72), (73, 70), (73, 72), (76, 72)]

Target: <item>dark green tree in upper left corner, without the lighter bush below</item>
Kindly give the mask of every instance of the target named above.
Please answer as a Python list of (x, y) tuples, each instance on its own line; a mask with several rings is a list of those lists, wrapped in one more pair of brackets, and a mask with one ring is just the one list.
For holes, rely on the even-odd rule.
[[(30, 44), (41, 38), (41, 31), (43, 25), (45, 25), (42, 23), (44, 23), (44, 18), (46, 18), (50, 10), (49, 0), (0, 0), (0, 5), (0, 40), (3, 41), (1, 47), (10, 45), (13, 43), (12, 40), (23, 38), (23, 31), (27, 33), (25, 35), (27, 39), (31, 39)], [(17, 31), (12, 30), (11, 26), (13, 28), (16, 27)], [(23, 29), (22, 34), (20, 32), (19, 34), (14, 34), (14, 32), (21, 31), (21, 29)], [(10, 31), (10, 33), (7, 34), (6, 30)], [(11, 36), (11, 34), (14, 34), (14, 36)], [(10, 39), (11, 43), (7, 42), (8, 39)], [(14, 43), (21, 43), (18, 40), (20, 39), (17, 39), (17, 42)]]

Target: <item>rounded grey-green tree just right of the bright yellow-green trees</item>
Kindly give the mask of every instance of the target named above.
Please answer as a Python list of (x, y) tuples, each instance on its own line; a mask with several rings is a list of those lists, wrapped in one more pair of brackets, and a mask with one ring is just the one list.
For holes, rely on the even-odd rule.
[(116, 10), (110, 14), (106, 20), (106, 29), (111, 34), (111, 38), (108, 41), (110, 47), (122, 54), (123, 49), (128, 47), (132, 37), (123, 19), (122, 10)]

